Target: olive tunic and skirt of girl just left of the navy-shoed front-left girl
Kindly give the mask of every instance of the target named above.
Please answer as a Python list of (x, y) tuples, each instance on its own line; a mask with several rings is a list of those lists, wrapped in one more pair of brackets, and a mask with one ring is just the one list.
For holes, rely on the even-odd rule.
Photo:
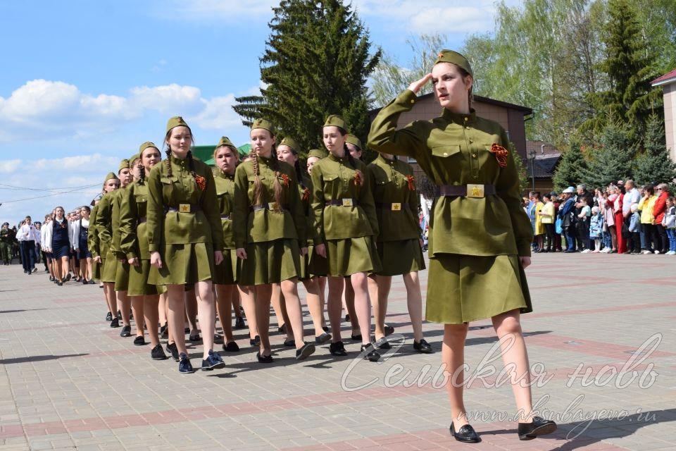
[(147, 206), (148, 185), (136, 180), (123, 192), (120, 199), (120, 255), (125, 260), (138, 259), (139, 266), (129, 266), (127, 295), (151, 296), (166, 291), (163, 285), (148, 283), (150, 251), (148, 249)]

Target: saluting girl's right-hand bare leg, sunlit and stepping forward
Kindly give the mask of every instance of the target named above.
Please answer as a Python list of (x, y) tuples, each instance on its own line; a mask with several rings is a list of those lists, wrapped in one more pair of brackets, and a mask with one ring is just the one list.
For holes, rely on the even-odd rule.
[(508, 369), (516, 408), (522, 415), (520, 422), (532, 421), (532, 395), (530, 392), (530, 365), (523, 340), (518, 309), (506, 311), (492, 318), (493, 328), (500, 340), (502, 359)]

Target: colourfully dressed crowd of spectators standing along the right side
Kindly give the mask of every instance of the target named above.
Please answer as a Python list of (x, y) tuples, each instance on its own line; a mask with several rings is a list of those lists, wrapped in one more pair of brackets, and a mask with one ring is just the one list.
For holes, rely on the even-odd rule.
[(532, 251), (676, 255), (676, 206), (667, 187), (620, 180), (594, 192), (585, 185), (532, 191), (523, 199)]

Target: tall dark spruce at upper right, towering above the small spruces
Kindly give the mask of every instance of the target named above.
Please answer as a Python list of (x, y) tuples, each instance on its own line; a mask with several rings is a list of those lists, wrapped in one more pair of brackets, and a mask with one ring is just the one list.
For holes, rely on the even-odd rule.
[(609, 123), (627, 123), (630, 138), (640, 140), (649, 115), (661, 104), (658, 89), (650, 81), (656, 78), (655, 57), (648, 50), (637, 11), (628, 0), (608, 1), (608, 21), (601, 40), (605, 59), (599, 69), (608, 77), (608, 89), (590, 94), (596, 114), (582, 124), (582, 130), (598, 135)]

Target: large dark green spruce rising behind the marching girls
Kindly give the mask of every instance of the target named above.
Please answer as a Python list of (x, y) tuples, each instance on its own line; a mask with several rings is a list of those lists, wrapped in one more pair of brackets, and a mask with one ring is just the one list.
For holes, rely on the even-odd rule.
[(305, 152), (323, 145), (326, 116), (340, 114), (348, 131), (365, 140), (366, 81), (381, 51), (371, 53), (361, 20), (339, 0), (282, 0), (273, 11), (260, 60), (265, 87), (260, 96), (239, 97), (233, 106), (242, 123), (268, 118), (278, 135), (294, 137)]

